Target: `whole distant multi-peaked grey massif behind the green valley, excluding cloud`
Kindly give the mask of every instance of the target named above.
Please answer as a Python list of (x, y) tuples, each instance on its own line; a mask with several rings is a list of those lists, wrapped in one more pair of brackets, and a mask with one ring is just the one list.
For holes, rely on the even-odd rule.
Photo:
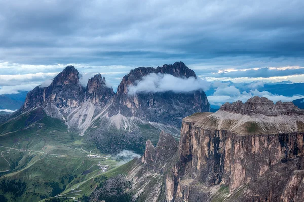
[[(197, 78), (194, 71), (183, 62), (157, 68), (140, 67), (124, 76), (114, 93), (100, 74), (89, 79), (86, 87), (82, 86), (79, 72), (73, 66), (68, 66), (48, 87), (37, 86), (30, 91), (24, 105), (14, 116), (41, 107), (47, 115), (62, 119), (80, 135), (89, 134), (100, 138), (100, 134), (110, 131), (111, 134), (123, 134), (127, 138), (132, 134), (137, 138), (143, 133), (158, 136), (161, 130), (165, 130), (178, 138), (183, 117), (210, 110), (206, 94), (196, 90), (187, 93), (166, 91), (129, 95), (128, 86), (136, 85), (137, 81), (150, 73)], [(106, 141), (103, 139), (102, 142)]]

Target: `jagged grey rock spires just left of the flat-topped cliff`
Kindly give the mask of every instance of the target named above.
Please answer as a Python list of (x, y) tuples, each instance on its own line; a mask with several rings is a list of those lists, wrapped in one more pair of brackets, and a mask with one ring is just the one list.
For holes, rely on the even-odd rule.
[(135, 201), (165, 201), (164, 176), (176, 151), (177, 141), (164, 131), (160, 133), (156, 146), (147, 140), (144, 155), (133, 160), (126, 177), (132, 181), (130, 191), (135, 193)]

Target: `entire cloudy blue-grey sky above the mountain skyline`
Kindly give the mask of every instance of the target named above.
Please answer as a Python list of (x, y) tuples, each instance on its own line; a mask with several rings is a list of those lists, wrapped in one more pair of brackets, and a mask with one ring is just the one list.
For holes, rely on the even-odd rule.
[(30, 90), (68, 64), (114, 88), (132, 68), (175, 61), (212, 82), (304, 81), (302, 0), (0, 5), (0, 94)]

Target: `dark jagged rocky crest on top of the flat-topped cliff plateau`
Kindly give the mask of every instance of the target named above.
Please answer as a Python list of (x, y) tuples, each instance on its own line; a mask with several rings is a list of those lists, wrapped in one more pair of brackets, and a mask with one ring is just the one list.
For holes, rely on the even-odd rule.
[(263, 114), (267, 116), (304, 114), (304, 110), (299, 109), (292, 102), (278, 101), (276, 104), (274, 104), (266, 97), (258, 96), (248, 99), (245, 103), (240, 100), (231, 104), (225, 103), (220, 107), (219, 110), (237, 114)]

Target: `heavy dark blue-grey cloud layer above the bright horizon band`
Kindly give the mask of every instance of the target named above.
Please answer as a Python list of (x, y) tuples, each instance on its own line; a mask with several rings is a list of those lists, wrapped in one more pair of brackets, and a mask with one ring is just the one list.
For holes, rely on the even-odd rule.
[[(4, 1), (0, 53), (18, 63), (302, 56), (303, 1)], [(135, 60), (135, 61), (134, 61)]]

